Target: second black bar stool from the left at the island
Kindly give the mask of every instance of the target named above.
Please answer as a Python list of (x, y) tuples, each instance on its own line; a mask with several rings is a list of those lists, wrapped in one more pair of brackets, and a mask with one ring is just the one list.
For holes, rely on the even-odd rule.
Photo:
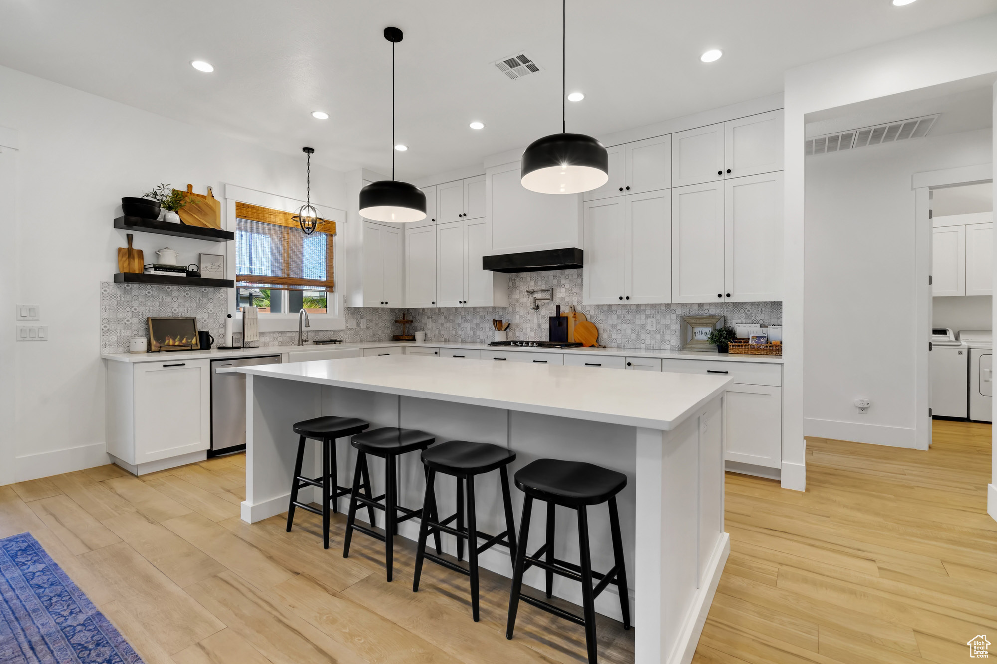
[[(343, 557), (350, 556), (350, 541), (353, 531), (360, 530), (375, 539), (385, 543), (385, 562), (388, 567), (388, 580), (394, 576), (395, 535), (398, 534), (398, 524), (402, 521), (423, 515), (425, 505), (419, 509), (410, 509), (398, 504), (398, 458), (416, 450), (426, 450), (436, 443), (436, 438), (424, 431), (416, 429), (398, 429), (384, 427), (353, 437), (352, 445), (359, 452), (357, 468), (353, 473), (353, 490), (350, 493), (350, 511), (346, 519), (346, 538), (343, 542)], [(367, 470), (367, 455), (374, 455), (385, 460), (385, 493), (372, 496), (370, 476)], [(427, 472), (428, 473), (428, 472)], [(361, 482), (361, 480), (363, 480)], [(360, 495), (360, 489), (364, 495)], [(381, 502), (384, 500), (384, 503)], [(367, 505), (371, 514), (371, 526), (359, 525), (356, 522), (357, 507)], [(374, 530), (374, 508), (384, 509), (384, 534)], [(398, 515), (402, 512), (402, 516)], [(437, 548), (440, 539), (437, 535)]]

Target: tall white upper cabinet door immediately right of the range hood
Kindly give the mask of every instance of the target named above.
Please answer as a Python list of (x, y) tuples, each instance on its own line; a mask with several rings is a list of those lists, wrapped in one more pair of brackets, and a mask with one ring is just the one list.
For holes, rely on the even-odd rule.
[(624, 196), (583, 204), (585, 304), (619, 304), (624, 291)]

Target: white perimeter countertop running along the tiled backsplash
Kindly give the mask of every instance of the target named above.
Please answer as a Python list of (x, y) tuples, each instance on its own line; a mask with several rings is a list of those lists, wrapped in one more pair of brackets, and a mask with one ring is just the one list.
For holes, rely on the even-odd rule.
[(463, 341), (427, 341), (417, 344), (411, 341), (356, 341), (342, 344), (305, 344), (304, 346), (260, 346), (236, 350), (166, 351), (162, 353), (104, 353), (105, 360), (116, 362), (163, 362), (165, 360), (215, 360), (225, 357), (257, 357), (260, 355), (280, 355), (338, 348), (388, 348), (392, 346), (417, 346), (424, 348), (462, 348), (467, 350), (502, 350), (524, 353), (566, 353), (579, 355), (622, 355), (625, 357), (674, 358), (686, 360), (714, 360), (719, 362), (761, 362), (782, 364), (781, 355), (733, 355), (726, 353), (704, 353), (698, 351), (654, 350), (646, 348), (525, 348), (519, 346), (490, 346), (485, 343)]

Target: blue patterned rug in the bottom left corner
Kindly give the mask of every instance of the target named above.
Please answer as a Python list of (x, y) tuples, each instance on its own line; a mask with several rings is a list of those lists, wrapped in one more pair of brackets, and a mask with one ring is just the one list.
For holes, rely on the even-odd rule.
[(0, 539), (0, 664), (143, 664), (28, 532)]

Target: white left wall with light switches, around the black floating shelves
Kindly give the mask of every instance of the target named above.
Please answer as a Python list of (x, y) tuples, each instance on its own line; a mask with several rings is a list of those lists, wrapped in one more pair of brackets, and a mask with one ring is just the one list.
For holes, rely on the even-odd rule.
[[(7, 68), (0, 68), (0, 127), (17, 130), (21, 142), (16, 215), (0, 203), (0, 244), (16, 237), (17, 276), (2, 289), (17, 302), (40, 304), (50, 333), (45, 343), (13, 344), (13, 370), (5, 361), (0, 372), (0, 397), (7, 390), (16, 395), (14, 422), (5, 419), (0, 434), (7, 443), (0, 446), (7, 454), (0, 458), (4, 484), (11, 474), (21, 481), (107, 463), (100, 284), (118, 271), (116, 249), (126, 246), (125, 232), (113, 227), (121, 196), (141, 195), (160, 182), (184, 188), (189, 182), (201, 193), (210, 184), (220, 197), (230, 182), (303, 198), (305, 186), (303, 156), (273, 153)], [(313, 166), (312, 198), (345, 207), (342, 173)], [(217, 246), (136, 234), (147, 259), (167, 245), (184, 261)], [(14, 330), (6, 299), (0, 320), (5, 360), (2, 343)]]

